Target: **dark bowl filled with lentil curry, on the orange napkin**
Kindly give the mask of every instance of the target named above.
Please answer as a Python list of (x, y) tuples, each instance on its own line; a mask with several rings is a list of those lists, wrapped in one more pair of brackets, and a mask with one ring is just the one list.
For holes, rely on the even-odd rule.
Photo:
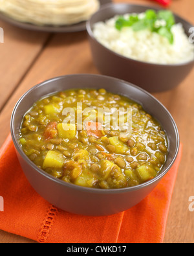
[[(122, 115), (111, 116), (113, 109)], [(131, 124), (130, 133), (115, 126), (121, 119)], [(102, 75), (60, 76), (32, 87), (14, 108), (11, 133), (32, 187), (81, 215), (111, 215), (138, 204), (173, 165), (179, 147), (177, 126), (158, 100)]]

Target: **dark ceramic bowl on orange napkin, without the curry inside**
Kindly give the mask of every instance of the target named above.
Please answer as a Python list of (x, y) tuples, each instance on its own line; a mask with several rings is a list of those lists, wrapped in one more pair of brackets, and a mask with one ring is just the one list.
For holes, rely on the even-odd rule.
[[(39, 169), (25, 155), (18, 143), (23, 115), (41, 97), (70, 88), (105, 88), (142, 104), (166, 131), (169, 154), (161, 173), (151, 181), (124, 189), (91, 189), (61, 181)], [(50, 204), (80, 215), (112, 215), (138, 204), (151, 192), (173, 165), (179, 148), (177, 126), (170, 113), (149, 93), (123, 80), (102, 75), (68, 75), (53, 78), (32, 87), (17, 102), (11, 118), (11, 134), (23, 172), (34, 189)]]

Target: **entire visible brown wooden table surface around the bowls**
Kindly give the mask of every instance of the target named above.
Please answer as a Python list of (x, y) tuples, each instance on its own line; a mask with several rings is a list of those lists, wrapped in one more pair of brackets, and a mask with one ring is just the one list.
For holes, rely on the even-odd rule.
[[(144, 3), (149, 0), (114, 0)], [(171, 10), (194, 24), (194, 1), (172, 0)], [(40, 80), (73, 73), (96, 73), (85, 31), (49, 34), (16, 28), (3, 21), (4, 43), (0, 43), (0, 146), (10, 130), (10, 115), (23, 93)], [(194, 69), (172, 91), (155, 93), (173, 115), (184, 145), (184, 154), (167, 218), (165, 243), (194, 242), (194, 212), (189, 211), (189, 197), (194, 196)], [(0, 231), (0, 243), (33, 243), (24, 237)]]

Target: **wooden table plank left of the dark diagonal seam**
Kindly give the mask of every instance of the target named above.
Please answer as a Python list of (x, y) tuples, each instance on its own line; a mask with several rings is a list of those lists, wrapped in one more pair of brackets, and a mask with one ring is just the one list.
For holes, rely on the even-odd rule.
[(0, 111), (6, 100), (36, 61), (49, 38), (48, 33), (19, 29), (0, 21), (4, 43), (0, 43)]

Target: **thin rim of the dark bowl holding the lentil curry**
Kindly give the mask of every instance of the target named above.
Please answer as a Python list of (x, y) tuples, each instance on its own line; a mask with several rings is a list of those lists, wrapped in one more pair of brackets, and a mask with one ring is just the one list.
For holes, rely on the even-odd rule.
[[(176, 137), (177, 137), (177, 140), (176, 140), (177, 145), (176, 145), (175, 154), (173, 156), (173, 159), (171, 160), (171, 163), (166, 167), (166, 169), (161, 170), (160, 174), (158, 174), (158, 176), (153, 178), (153, 180), (147, 181), (145, 183), (142, 183), (140, 185), (136, 185), (136, 186), (133, 186), (133, 187), (125, 187), (125, 188), (122, 188), (122, 189), (94, 189), (94, 188), (89, 188), (89, 187), (81, 187), (79, 185), (74, 185), (72, 183), (67, 183), (65, 181), (59, 180), (58, 178), (55, 178), (54, 176), (52, 176), (50, 174), (47, 174), (47, 172), (45, 172), (44, 170), (39, 169), (39, 167), (37, 167), (32, 161), (30, 161), (30, 159), (23, 152), (21, 146), (19, 145), (19, 143), (16, 139), (16, 134), (14, 133), (14, 117), (15, 117), (17, 107), (19, 106), (20, 102), (25, 97), (27, 97), (27, 95), (31, 91), (36, 90), (41, 86), (46, 86), (48, 82), (54, 82), (56, 80), (61, 80), (61, 79), (64, 79), (65, 77), (67, 77), (67, 76), (69, 76), (69, 77), (70, 76), (80, 76), (80, 78), (81, 78), (81, 76), (88, 76), (89, 78), (101, 77), (101, 78), (111, 79), (111, 80), (114, 80), (114, 81), (117, 80), (118, 82), (125, 83), (128, 86), (135, 87), (136, 89), (142, 91), (143, 93), (146, 93), (146, 95), (148, 95), (153, 100), (155, 100), (158, 104), (160, 104), (160, 106), (162, 106), (162, 108), (166, 111), (167, 115), (169, 115), (169, 117), (171, 119), (171, 122), (173, 124), (174, 130), (175, 130)], [(53, 93), (55, 93), (55, 92), (57, 92), (57, 91), (53, 91)], [(50, 78), (50, 79), (45, 80), (45, 81), (43, 81), (39, 84), (36, 84), (36, 86), (33, 86), (30, 89), (28, 89), (28, 91), (21, 96), (21, 98), (17, 101), (16, 105), (14, 106), (14, 110), (12, 111), (12, 115), (11, 115), (11, 119), (10, 119), (10, 133), (12, 135), (12, 141), (14, 143), (14, 146), (15, 146), (17, 152), (23, 158), (23, 160), (25, 160), (25, 162), (27, 162), (27, 164), (30, 165), (36, 172), (39, 172), (39, 174), (45, 176), (45, 178), (48, 178), (49, 180), (52, 180), (53, 182), (59, 183), (60, 185), (63, 185), (65, 187), (69, 187), (70, 189), (76, 189), (78, 191), (85, 191), (85, 192), (98, 193), (98, 194), (118, 194), (118, 193), (124, 193), (124, 192), (127, 192), (127, 191), (136, 191), (138, 189), (142, 189), (143, 187), (147, 187), (147, 186), (151, 185), (152, 183), (155, 183), (156, 181), (160, 180), (164, 175), (166, 175), (166, 173), (169, 171), (169, 169), (171, 169), (173, 163), (175, 162), (175, 159), (177, 158), (179, 147), (180, 147), (180, 137), (179, 137), (179, 134), (178, 134), (178, 128), (177, 128), (177, 125), (176, 125), (173, 117), (171, 116), (171, 113), (169, 113), (169, 111), (166, 109), (166, 107), (158, 99), (156, 99), (153, 95), (148, 93), (146, 90), (144, 90), (144, 89), (142, 89), (138, 86), (135, 86), (134, 84), (131, 84), (130, 82), (127, 82), (125, 80), (121, 80), (121, 79), (118, 79), (118, 78), (113, 78), (111, 76), (87, 74), (87, 73), (56, 76), (54, 78)]]

